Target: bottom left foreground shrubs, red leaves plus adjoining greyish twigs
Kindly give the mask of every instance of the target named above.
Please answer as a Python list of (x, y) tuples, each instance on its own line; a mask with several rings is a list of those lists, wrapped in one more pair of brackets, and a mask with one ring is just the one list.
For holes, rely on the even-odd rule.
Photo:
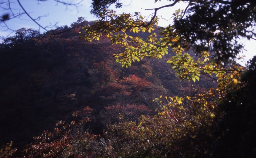
[(102, 145), (96, 140), (100, 135), (90, 134), (87, 129), (92, 111), (91, 108), (84, 107), (83, 111), (74, 112), (74, 118), (69, 119), (70, 123), (57, 122), (53, 132), (44, 131), (42, 135), (35, 137), (34, 143), (28, 144), (23, 150), (9, 156), (101, 157), (104, 154), (100, 152)]

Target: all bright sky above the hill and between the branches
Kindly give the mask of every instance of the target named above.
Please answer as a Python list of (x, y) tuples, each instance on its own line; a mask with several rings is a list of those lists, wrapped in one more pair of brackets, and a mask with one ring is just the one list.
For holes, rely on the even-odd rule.
[[(6, 0), (3, 0), (6, 1)], [(65, 1), (65, 0), (63, 0)], [(67, 0), (65, 2), (73, 2), (77, 3), (81, 0)], [(14, 12), (19, 12), (20, 7), (18, 5), (17, 0), (10, 0), (11, 7), (13, 8)], [(122, 0), (123, 7), (118, 9), (118, 13), (122, 12), (141, 12), (142, 16), (150, 17), (150, 14), (152, 14), (153, 10), (145, 10), (145, 9), (153, 9), (157, 8), (163, 5), (170, 4), (167, 0), (162, 0), (161, 2), (154, 3), (154, 0)], [(57, 23), (57, 26), (70, 26), (73, 22), (76, 22), (78, 17), (85, 17), (87, 21), (96, 20), (96, 17), (94, 15), (90, 14), (90, 10), (92, 9), (91, 0), (83, 0), (77, 7), (75, 6), (66, 6), (63, 4), (58, 4), (54, 0), (47, 0), (43, 2), (38, 2), (37, 0), (20, 0), (21, 5), (24, 7), (24, 9), (33, 17), (37, 18), (39, 16), (42, 16), (40, 20), (37, 22), (42, 25), (43, 27), (51, 26)], [(162, 19), (159, 20), (158, 25), (159, 26), (168, 26), (170, 23), (172, 23), (171, 17), (172, 13), (177, 9), (184, 9), (186, 7), (186, 4), (179, 3), (175, 5), (175, 7), (168, 7), (164, 8), (158, 11), (159, 17)], [(112, 7), (110, 9), (115, 9), (115, 7)], [(8, 11), (1, 11), (1, 14), (4, 13), (10, 13)], [(0, 14), (0, 16), (1, 16)], [(17, 30), (19, 28), (33, 28), (33, 29), (39, 29), (39, 26), (36, 25), (35, 22), (30, 20), (27, 15), (23, 15), (21, 18), (12, 19), (9, 21), (6, 21), (6, 24), (9, 28), (12, 30)], [(6, 27), (3, 27), (4, 24), (0, 23), (0, 37), (1, 36), (8, 36), (13, 35), (14, 33), (11, 30), (8, 30)], [(47, 28), (47, 30), (50, 30), (52, 28)], [(53, 27), (54, 29), (54, 27)], [(45, 30), (40, 29), (41, 32), (44, 32)], [(256, 55), (256, 41), (247, 41), (243, 40), (243, 43), (245, 45), (245, 49), (247, 51), (244, 51), (245, 62), (249, 59), (251, 59), (254, 55)], [(242, 55), (242, 53), (241, 53)], [(244, 62), (240, 62), (244, 65)]]

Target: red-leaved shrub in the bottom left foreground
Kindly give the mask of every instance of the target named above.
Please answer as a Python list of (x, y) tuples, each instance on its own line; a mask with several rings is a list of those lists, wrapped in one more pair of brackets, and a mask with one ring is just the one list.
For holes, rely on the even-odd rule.
[[(76, 117), (77, 113), (82, 113), (82, 115), (87, 115), (92, 113), (90, 107), (84, 107), (83, 112), (74, 112), (73, 116)], [(66, 156), (76, 156), (74, 152), (76, 147), (74, 146), (74, 139), (79, 139), (83, 143), (92, 142), (96, 137), (100, 135), (89, 134), (84, 131), (84, 125), (89, 122), (88, 117), (82, 116), (83, 119), (79, 120), (77, 123), (73, 120), (70, 123), (65, 123), (65, 121), (59, 121), (56, 123), (56, 128), (53, 132), (44, 131), (41, 136), (35, 137), (35, 143), (31, 143), (25, 146), (24, 150), (19, 153), (17, 157), (66, 157)], [(81, 130), (82, 129), (82, 130)], [(76, 138), (74, 138), (76, 136)], [(77, 156), (81, 157), (81, 156)]]

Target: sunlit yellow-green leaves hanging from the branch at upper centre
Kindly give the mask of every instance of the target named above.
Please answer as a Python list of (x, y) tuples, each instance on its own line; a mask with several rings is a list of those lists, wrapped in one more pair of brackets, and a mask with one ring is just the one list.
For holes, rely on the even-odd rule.
[(116, 15), (115, 11), (107, 10), (100, 20), (94, 21), (92, 26), (84, 27), (85, 32), (80, 36), (81, 39), (92, 41), (99, 40), (100, 36), (106, 34), (112, 43), (124, 47), (123, 52), (115, 52), (116, 62), (122, 66), (129, 67), (132, 62), (140, 61), (144, 57), (161, 59), (167, 54), (167, 43), (159, 41), (156, 33), (152, 33), (146, 40), (139, 36), (130, 36), (127, 31), (139, 33), (148, 31), (151, 33), (157, 25), (157, 18), (151, 23), (145, 22), (146, 19), (139, 12), (131, 14)]

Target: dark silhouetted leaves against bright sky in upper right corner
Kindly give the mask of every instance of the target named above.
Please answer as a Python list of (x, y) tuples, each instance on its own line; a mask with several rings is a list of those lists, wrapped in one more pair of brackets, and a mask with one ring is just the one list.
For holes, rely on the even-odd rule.
[(253, 1), (193, 1), (185, 16), (169, 27), (197, 52), (211, 51), (218, 60), (227, 61), (243, 49), (241, 37), (253, 39), (256, 3)]

